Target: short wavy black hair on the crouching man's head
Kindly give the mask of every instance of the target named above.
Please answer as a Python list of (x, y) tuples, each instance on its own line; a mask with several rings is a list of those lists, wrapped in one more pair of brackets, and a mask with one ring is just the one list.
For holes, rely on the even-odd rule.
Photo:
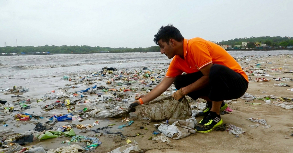
[(171, 24), (167, 26), (162, 26), (158, 33), (154, 35), (154, 42), (158, 44), (159, 40), (162, 39), (162, 42), (166, 42), (169, 45), (170, 39), (175, 39), (178, 42), (183, 41), (184, 37), (181, 35), (180, 31)]

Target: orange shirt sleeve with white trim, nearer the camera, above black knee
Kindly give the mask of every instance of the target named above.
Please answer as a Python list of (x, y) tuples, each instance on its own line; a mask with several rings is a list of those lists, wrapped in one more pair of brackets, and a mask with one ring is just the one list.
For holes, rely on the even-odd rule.
[(191, 44), (191, 52), (195, 65), (198, 69), (202, 69), (206, 65), (213, 63), (212, 57), (209, 54), (210, 46), (205, 42), (196, 41)]

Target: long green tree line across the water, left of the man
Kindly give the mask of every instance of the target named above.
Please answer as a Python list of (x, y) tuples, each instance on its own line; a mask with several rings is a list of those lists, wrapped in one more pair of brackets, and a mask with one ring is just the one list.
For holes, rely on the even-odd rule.
[(111, 48), (111, 47), (91, 47), (87, 45), (83, 46), (17, 46), (17, 47), (0, 47), (0, 53), (36, 53), (36, 52), (50, 52), (54, 54), (64, 54), (64, 53), (103, 53), (103, 52), (154, 52), (160, 51), (159, 46), (152, 46), (147, 48)]

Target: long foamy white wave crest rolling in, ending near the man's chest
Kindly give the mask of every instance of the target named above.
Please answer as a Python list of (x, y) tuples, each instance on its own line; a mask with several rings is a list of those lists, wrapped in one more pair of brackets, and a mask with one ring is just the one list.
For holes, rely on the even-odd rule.
[(11, 69), (17, 70), (32, 70), (32, 69), (43, 69), (43, 68), (59, 68), (68, 66), (82, 66), (82, 65), (97, 65), (97, 64), (112, 64), (112, 63), (129, 63), (129, 62), (139, 62), (139, 61), (160, 61), (164, 59), (132, 59), (123, 61), (104, 61), (104, 62), (90, 62), (90, 63), (75, 63), (75, 64), (48, 64), (48, 65), (20, 65), (13, 66)]

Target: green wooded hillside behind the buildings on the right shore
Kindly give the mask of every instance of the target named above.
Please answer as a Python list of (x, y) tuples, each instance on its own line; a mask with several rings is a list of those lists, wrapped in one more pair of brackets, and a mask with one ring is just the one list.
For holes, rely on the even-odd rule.
[(225, 45), (241, 45), (242, 42), (248, 42), (248, 47), (249, 44), (253, 44), (254, 42), (262, 42), (262, 44), (267, 44), (268, 46), (271, 47), (276, 47), (276, 46), (282, 46), (282, 47), (287, 47), (287, 46), (293, 46), (293, 37), (253, 37), (251, 36), (250, 38), (235, 38), (231, 39), (228, 41), (222, 41), (222, 44)]

